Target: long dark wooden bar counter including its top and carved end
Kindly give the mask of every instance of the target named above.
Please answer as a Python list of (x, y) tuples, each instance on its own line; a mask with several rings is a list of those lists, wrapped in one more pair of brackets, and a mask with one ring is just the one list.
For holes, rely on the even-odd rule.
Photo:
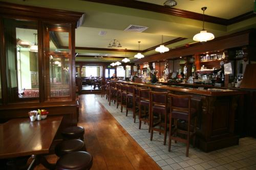
[[(234, 134), (234, 116), (238, 103), (245, 92), (226, 89), (197, 89), (116, 81), (136, 86), (146, 86), (154, 91), (167, 91), (177, 95), (192, 95), (191, 106), (197, 109), (197, 147), (205, 152), (229, 147), (239, 143)], [(239, 103), (241, 106), (241, 103)]]

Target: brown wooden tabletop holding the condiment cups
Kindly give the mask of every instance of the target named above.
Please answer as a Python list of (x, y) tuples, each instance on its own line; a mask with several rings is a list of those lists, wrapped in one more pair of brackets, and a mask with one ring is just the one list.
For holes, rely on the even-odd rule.
[(0, 125), (0, 159), (49, 153), (62, 116), (30, 122), (14, 118)]

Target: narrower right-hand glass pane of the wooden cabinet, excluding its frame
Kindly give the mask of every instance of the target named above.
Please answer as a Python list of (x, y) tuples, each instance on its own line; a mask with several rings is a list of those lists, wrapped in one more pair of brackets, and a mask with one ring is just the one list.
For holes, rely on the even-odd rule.
[(69, 32), (49, 31), (50, 97), (70, 95)]

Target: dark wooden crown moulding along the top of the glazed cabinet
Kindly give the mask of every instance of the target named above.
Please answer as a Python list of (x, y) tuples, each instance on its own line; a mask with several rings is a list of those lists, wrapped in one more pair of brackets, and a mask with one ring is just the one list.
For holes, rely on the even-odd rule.
[[(49, 15), (50, 14), (50, 15)], [(61, 20), (62, 22), (75, 22), (76, 28), (84, 22), (84, 13), (42, 8), (35, 6), (17, 5), (11, 3), (0, 3), (0, 15), (32, 17), (36, 19)]]

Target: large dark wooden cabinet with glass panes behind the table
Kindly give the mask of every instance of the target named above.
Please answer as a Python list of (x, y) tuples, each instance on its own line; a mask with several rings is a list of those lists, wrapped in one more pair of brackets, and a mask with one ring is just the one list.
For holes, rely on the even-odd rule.
[[(0, 120), (46, 109), (77, 124), (75, 28), (79, 12), (0, 4)], [(1, 94), (0, 93), (0, 94)]]

